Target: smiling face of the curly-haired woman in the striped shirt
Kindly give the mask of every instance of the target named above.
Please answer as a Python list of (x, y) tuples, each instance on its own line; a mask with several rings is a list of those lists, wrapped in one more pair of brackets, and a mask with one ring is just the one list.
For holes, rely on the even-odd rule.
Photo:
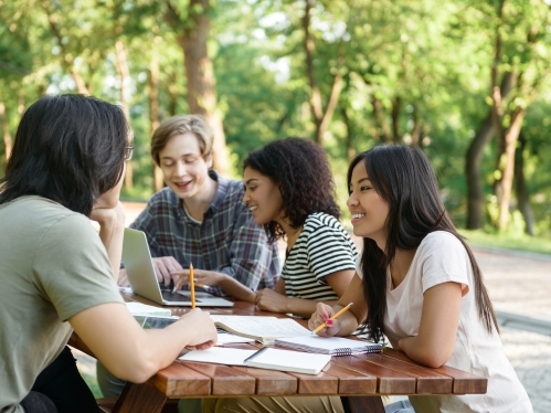
[(257, 224), (278, 221), (282, 218), (282, 193), (272, 179), (256, 169), (245, 168), (243, 172), (245, 194), (243, 202), (248, 205)]

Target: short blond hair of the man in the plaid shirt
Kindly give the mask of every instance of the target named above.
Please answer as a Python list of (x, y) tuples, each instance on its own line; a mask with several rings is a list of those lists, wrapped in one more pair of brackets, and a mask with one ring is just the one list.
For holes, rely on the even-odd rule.
[(201, 148), (201, 156), (209, 160), (212, 157), (213, 134), (204, 117), (200, 115), (178, 115), (163, 120), (151, 136), (151, 158), (160, 166), (159, 152), (169, 139), (176, 135), (192, 133)]

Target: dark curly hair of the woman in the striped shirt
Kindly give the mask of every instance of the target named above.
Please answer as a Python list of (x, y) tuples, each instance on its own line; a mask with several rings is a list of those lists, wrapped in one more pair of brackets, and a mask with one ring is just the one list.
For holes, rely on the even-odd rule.
[[(245, 168), (257, 170), (278, 187), (282, 210), (292, 227), (299, 227), (316, 212), (340, 218), (327, 155), (311, 140), (285, 138), (269, 142), (248, 153), (243, 161)], [(264, 229), (271, 242), (285, 235), (275, 221), (264, 224)]]

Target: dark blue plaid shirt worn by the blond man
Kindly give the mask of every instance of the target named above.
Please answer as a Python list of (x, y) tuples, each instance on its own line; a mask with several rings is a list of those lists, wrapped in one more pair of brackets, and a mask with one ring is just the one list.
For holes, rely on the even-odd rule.
[[(153, 194), (130, 227), (146, 233), (153, 257), (173, 256), (183, 268), (191, 261), (195, 268), (227, 274), (253, 292), (275, 288), (277, 244), (267, 243), (264, 229), (243, 203), (243, 182), (226, 180), (212, 169), (209, 176), (218, 181), (218, 191), (203, 222), (191, 219), (183, 201), (167, 187)], [(225, 295), (215, 286), (209, 293)]]

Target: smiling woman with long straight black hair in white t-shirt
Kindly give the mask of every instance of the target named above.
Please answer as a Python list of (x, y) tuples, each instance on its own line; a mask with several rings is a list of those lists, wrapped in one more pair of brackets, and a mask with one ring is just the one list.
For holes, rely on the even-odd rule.
[(337, 306), (318, 304), (320, 336), (348, 336), (364, 325), (374, 340), (428, 367), (454, 367), (488, 379), (486, 394), (416, 395), (415, 412), (531, 412), (507, 360), (475, 257), (439, 198), (434, 171), (418, 149), (379, 146), (348, 170), (356, 235), (363, 237), (357, 274)]

